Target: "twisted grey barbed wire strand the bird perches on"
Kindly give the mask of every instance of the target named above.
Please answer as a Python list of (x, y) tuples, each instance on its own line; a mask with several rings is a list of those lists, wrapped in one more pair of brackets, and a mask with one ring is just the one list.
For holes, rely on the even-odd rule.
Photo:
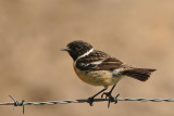
[[(48, 102), (26, 102), (25, 100), (16, 101), (12, 95), (9, 95), (13, 102), (0, 103), (0, 105), (13, 105), (13, 106), (23, 106), (23, 114), (25, 113), (25, 105), (53, 105), (53, 104), (67, 104), (67, 103), (88, 103), (88, 99), (82, 100), (64, 100), (64, 101), (48, 101)], [(108, 99), (94, 99), (94, 102), (104, 102)], [(140, 101), (140, 102), (174, 102), (174, 99), (146, 99), (146, 98), (117, 98), (115, 96), (111, 102), (117, 101)]]

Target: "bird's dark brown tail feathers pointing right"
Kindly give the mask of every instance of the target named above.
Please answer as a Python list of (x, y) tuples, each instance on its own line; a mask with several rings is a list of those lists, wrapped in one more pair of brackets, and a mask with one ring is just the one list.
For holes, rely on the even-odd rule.
[(146, 81), (150, 77), (151, 73), (157, 69), (149, 69), (149, 68), (132, 68), (128, 70), (123, 72), (123, 75), (128, 77), (138, 79), (140, 81)]

